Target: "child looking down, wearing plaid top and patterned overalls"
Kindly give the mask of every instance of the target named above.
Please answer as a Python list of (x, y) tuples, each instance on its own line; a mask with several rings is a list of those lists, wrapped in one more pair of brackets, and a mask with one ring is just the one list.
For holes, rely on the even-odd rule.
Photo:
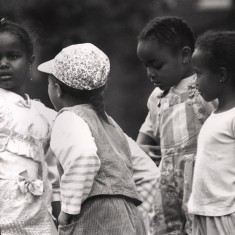
[(149, 97), (149, 113), (137, 143), (150, 156), (162, 156), (152, 234), (191, 234), (186, 205), (197, 135), (214, 109), (196, 89), (193, 51), (194, 35), (177, 17), (157, 17), (138, 36), (137, 54), (156, 88)]

